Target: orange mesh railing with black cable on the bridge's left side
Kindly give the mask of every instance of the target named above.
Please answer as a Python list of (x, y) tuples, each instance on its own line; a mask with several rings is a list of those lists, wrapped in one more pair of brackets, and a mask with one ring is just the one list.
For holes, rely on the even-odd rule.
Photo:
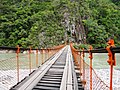
[(46, 49), (0, 47), (0, 88), (10, 89), (64, 46)]

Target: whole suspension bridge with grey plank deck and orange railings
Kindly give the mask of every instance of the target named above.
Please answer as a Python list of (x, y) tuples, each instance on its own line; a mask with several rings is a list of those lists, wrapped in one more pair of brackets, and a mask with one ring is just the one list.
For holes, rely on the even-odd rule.
[[(20, 48), (19, 46), (17, 48), (0, 47), (0, 49), (12, 50), (16, 55), (0, 61), (0, 70), (4, 74), (8, 74), (5, 71), (9, 70), (9, 75), (12, 74), (11, 77), (15, 78), (12, 81), (13, 85), (8, 88), (10, 90), (113, 90), (115, 53), (120, 53), (120, 47), (114, 47), (111, 41), (107, 48), (92, 49), (90, 47), (89, 50), (81, 51), (76, 50), (72, 44), (47, 49)], [(89, 54), (89, 64), (84, 60), (85, 53)], [(93, 53), (108, 53), (109, 85), (98, 77), (92, 67)], [(5, 80), (0, 82), (7, 83)]]

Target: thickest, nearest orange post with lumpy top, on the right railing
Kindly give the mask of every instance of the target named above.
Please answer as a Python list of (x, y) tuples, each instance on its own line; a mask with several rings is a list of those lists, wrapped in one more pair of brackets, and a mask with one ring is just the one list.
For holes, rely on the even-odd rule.
[(106, 50), (108, 51), (108, 56), (109, 56), (109, 59), (107, 60), (107, 62), (110, 65), (110, 90), (112, 90), (113, 66), (116, 66), (115, 53), (111, 51), (112, 47), (115, 47), (114, 40), (110, 39), (108, 41), (108, 46), (106, 48)]

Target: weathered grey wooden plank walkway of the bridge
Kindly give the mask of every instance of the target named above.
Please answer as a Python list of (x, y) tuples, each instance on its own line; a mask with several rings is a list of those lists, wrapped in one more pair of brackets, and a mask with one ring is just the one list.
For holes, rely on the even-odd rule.
[(66, 46), (10, 90), (84, 90), (78, 74)]

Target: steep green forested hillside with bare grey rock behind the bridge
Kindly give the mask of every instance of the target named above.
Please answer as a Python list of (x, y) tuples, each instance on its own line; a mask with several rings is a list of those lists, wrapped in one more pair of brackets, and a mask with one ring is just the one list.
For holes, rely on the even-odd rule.
[(0, 0), (0, 46), (105, 47), (111, 37), (120, 46), (119, 0)]

